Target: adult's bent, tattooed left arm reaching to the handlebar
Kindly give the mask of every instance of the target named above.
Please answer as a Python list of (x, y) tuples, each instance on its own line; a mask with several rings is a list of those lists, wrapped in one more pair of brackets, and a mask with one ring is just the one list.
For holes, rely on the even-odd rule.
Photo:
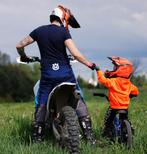
[(18, 54), (21, 56), (21, 57), (26, 57), (26, 54), (24, 52), (24, 47), (33, 43), (34, 40), (32, 39), (32, 37), (30, 36), (27, 36), (26, 38), (24, 38), (23, 40), (21, 40), (17, 45), (16, 45), (16, 49), (17, 49), (17, 52)]

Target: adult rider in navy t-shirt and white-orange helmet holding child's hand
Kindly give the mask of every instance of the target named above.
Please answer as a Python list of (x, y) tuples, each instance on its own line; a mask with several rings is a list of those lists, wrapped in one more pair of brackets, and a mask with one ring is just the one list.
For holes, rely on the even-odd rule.
[[(92, 70), (95, 67), (95, 64), (88, 61), (79, 52), (72, 41), (68, 31), (68, 24), (74, 28), (80, 26), (70, 10), (59, 5), (50, 15), (50, 22), (50, 25), (41, 26), (33, 30), (29, 36), (16, 45), (21, 60), (25, 62), (29, 62), (30, 57), (26, 56), (24, 47), (36, 41), (40, 50), (41, 79), (38, 95), (39, 104), (36, 107), (34, 124), (34, 139), (36, 141), (43, 140), (46, 104), (51, 90), (62, 82), (77, 82), (69, 64), (66, 47), (69, 49), (71, 55), (79, 62)], [(91, 120), (82, 97), (78, 102), (77, 115), (84, 136), (92, 144), (95, 144), (96, 140), (92, 135)]]

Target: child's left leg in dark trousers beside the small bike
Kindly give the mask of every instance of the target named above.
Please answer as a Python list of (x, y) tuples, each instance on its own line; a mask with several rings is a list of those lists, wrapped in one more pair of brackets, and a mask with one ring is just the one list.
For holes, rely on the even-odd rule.
[(111, 109), (110, 107), (108, 108), (104, 119), (103, 136), (112, 137), (113, 120), (116, 113), (116, 109)]

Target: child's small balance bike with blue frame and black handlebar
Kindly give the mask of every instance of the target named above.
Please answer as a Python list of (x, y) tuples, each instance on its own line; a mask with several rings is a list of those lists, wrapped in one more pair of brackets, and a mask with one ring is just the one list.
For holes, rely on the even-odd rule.
[[(108, 96), (103, 93), (93, 93), (93, 95), (105, 97), (109, 101)], [(125, 144), (127, 148), (131, 148), (134, 130), (131, 127), (130, 121), (126, 118), (127, 114), (127, 111), (123, 109), (117, 111), (113, 125), (111, 127), (112, 131), (110, 139), (118, 141), (120, 144)]]

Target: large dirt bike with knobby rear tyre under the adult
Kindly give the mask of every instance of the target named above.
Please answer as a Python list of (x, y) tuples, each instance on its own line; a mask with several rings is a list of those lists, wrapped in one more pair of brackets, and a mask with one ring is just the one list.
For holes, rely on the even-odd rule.
[[(40, 62), (38, 57), (31, 58), (30, 62)], [(19, 58), (17, 61), (23, 63)], [(72, 154), (78, 154), (80, 149), (80, 130), (75, 111), (79, 98), (76, 84), (63, 82), (51, 91), (47, 102), (46, 126), (52, 129), (59, 145)]]

